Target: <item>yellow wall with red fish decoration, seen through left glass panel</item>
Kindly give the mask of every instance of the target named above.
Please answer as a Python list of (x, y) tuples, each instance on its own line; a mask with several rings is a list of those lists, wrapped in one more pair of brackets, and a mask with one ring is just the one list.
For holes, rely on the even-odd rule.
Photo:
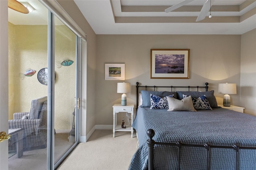
[[(37, 79), (38, 71), (47, 67), (47, 26), (11, 23), (9, 26), (9, 119), (12, 119), (14, 112), (29, 112), (33, 99), (47, 96), (47, 86)], [(36, 70), (36, 74), (20, 79), (19, 74), (27, 69)]]

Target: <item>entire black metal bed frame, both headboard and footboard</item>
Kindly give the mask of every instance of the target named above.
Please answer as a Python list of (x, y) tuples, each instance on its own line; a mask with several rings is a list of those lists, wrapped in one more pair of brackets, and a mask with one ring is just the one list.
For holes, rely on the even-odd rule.
[[(170, 88), (171, 91), (173, 88), (188, 88), (188, 91), (190, 91), (190, 88), (196, 88), (197, 91), (199, 88), (205, 88), (205, 91), (208, 91), (208, 84), (209, 83), (205, 83), (206, 86), (139, 86), (139, 83), (136, 82), (136, 89), (137, 89), (137, 93), (136, 93), (136, 109), (138, 109), (138, 94), (139, 94), (139, 87), (144, 87), (147, 90), (147, 87), (154, 87), (154, 91), (156, 91), (156, 88), (158, 87), (164, 87), (164, 88)], [(177, 169), (180, 170), (180, 150), (181, 148), (186, 148), (186, 147), (201, 147), (201, 148), (205, 148), (206, 150), (206, 170), (210, 170), (209, 167), (209, 152), (210, 152), (210, 148), (226, 148), (226, 149), (234, 149), (234, 159), (235, 159), (235, 170), (238, 169), (238, 151), (240, 149), (252, 149), (255, 150), (256, 147), (246, 147), (246, 146), (239, 146), (238, 144), (234, 144), (233, 146), (218, 146), (218, 145), (210, 145), (209, 143), (205, 143), (205, 144), (186, 144), (186, 143), (181, 143), (180, 141), (177, 141), (176, 143), (165, 143), (165, 142), (156, 142), (155, 140), (153, 140), (152, 138), (155, 135), (155, 132), (153, 129), (148, 129), (147, 130), (147, 135), (149, 137), (149, 139), (147, 140), (147, 144), (148, 144), (148, 169), (149, 170), (153, 170), (153, 157), (154, 157), (154, 153), (153, 153), (153, 148), (155, 144), (159, 144), (159, 145), (169, 145), (169, 146), (177, 146), (178, 149), (178, 167)]]

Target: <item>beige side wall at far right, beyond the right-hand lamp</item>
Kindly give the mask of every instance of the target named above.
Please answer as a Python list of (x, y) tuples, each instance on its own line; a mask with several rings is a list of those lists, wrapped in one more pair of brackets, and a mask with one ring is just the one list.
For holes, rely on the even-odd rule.
[(241, 38), (241, 96), (245, 113), (256, 116), (256, 29)]

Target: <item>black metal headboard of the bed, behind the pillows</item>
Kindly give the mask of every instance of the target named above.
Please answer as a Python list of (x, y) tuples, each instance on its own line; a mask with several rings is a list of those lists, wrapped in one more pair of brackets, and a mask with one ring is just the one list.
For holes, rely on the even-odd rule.
[(205, 83), (205, 86), (139, 86), (139, 82), (136, 82), (136, 110), (138, 109), (138, 100), (139, 100), (139, 87), (144, 87), (145, 90), (147, 90), (147, 87), (154, 87), (154, 91), (156, 91), (156, 88), (170, 88), (170, 91), (172, 91), (172, 88), (188, 88), (188, 91), (190, 91), (190, 88), (196, 88), (197, 91), (199, 88), (205, 88), (205, 91), (208, 91), (208, 84)]

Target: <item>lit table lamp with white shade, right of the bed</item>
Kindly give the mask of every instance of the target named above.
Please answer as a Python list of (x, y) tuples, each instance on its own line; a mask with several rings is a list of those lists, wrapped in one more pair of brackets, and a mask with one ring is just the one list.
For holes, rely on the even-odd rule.
[(236, 83), (220, 83), (219, 84), (219, 93), (225, 94), (223, 97), (223, 106), (230, 107), (230, 95), (236, 94)]

